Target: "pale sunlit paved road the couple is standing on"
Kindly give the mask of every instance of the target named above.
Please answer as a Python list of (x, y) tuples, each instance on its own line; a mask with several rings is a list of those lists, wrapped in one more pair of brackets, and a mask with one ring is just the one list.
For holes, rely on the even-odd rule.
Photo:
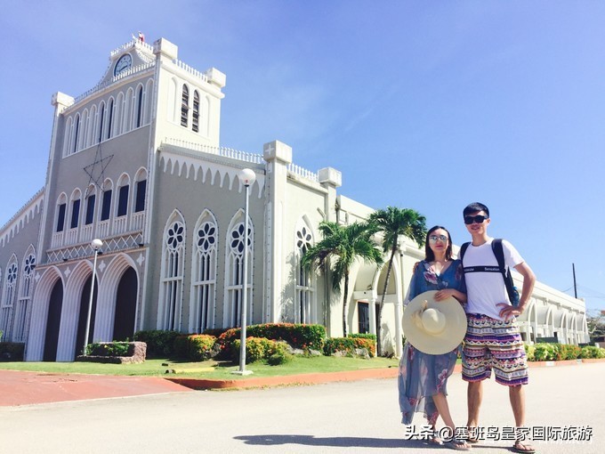
[[(528, 424), (591, 427), (592, 442), (536, 442), (538, 452), (601, 453), (605, 363), (531, 369)], [(465, 384), (448, 383), (457, 421)], [(484, 426), (511, 426), (508, 393), (486, 383)], [(415, 420), (422, 424), (422, 418)], [(404, 441), (394, 379), (252, 391), (164, 393), (0, 408), (4, 453), (406, 453), (445, 452)], [(510, 441), (473, 451), (506, 453)]]

